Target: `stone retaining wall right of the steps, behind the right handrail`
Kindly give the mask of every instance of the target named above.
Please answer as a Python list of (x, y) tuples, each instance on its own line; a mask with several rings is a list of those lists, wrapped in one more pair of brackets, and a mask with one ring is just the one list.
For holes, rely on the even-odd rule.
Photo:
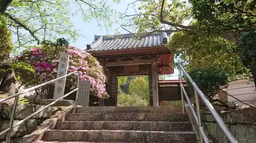
[[(220, 116), (238, 142), (256, 142), (256, 109), (245, 108), (221, 112)], [(209, 139), (214, 143), (228, 143), (228, 139), (211, 113), (202, 113), (202, 121)]]

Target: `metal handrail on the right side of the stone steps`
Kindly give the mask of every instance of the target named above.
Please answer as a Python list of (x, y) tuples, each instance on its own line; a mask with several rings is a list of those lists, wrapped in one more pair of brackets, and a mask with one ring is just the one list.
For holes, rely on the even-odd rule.
[[(196, 114), (196, 111), (195, 111), (193, 105), (191, 104), (191, 102), (190, 102), (190, 100), (189, 100), (189, 98), (187, 96), (187, 93), (185, 91), (185, 88), (184, 88), (182, 82), (180, 82), (180, 84), (181, 84), (181, 96), (183, 97), (183, 93), (184, 93), (184, 95), (185, 95), (185, 97), (186, 97), (186, 99), (188, 101), (189, 107), (191, 109), (192, 115), (196, 119), (198, 128), (200, 130), (200, 141), (201, 141), (201, 143), (203, 141), (208, 143), (209, 139), (207, 138), (207, 136), (205, 134), (205, 131), (204, 131), (202, 125), (201, 125), (200, 104), (199, 104), (200, 102), (199, 102), (198, 95), (202, 99), (202, 101), (204, 102), (204, 104), (206, 105), (208, 110), (211, 112), (211, 115), (215, 118), (217, 123), (220, 125), (222, 131), (225, 133), (225, 135), (227, 136), (229, 141), (231, 143), (238, 143), (238, 140), (233, 136), (233, 134), (227, 128), (225, 123), (222, 121), (221, 117), (219, 116), (218, 112), (215, 110), (214, 106), (211, 105), (211, 103), (207, 100), (207, 98), (205, 97), (203, 92), (198, 88), (197, 84), (193, 81), (193, 79), (188, 75), (188, 73), (184, 70), (184, 68), (181, 65), (179, 66), (179, 71), (180, 71), (180, 81), (182, 81), (182, 72), (183, 72), (184, 75), (186, 76), (186, 78), (190, 81), (190, 83), (194, 87), (196, 107), (197, 107), (197, 114)], [(184, 112), (184, 110), (185, 110), (184, 98), (181, 98), (181, 99), (182, 99), (182, 108), (183, 108), (183, 112)]]

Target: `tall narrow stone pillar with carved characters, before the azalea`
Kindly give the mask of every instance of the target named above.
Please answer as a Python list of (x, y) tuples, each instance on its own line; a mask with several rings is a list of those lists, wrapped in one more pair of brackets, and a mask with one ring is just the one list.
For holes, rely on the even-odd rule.
[[(69, 67), (69, 54), (62, 53), (59, 58), (57, 78), (67, 75)], [(66, 77), (55, 82), (53, 99), (58, 99), (64, 95)]]

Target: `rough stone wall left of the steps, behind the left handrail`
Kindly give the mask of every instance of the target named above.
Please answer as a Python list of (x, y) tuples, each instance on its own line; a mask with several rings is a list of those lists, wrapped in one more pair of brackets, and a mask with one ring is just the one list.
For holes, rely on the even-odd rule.
[[(38, 111), (41, 108), (44, 108), (46, 105), (53, 101), (53, 99), (44, 99), (37, 101), (36, 103), (34, 101), (31, 101), (29, 104), (18, 103), (13, 124), (16, 124), (20, 120), (25, 119), (32, 113)], [(25, 123), (22, 123), (19, 126), (15, 127), (12, 131), (11, 138), (22, 137), (26, 134), (33, 132), (42, 122), (44, 122), (46, 119), (51, 118), (51, 116), (54, 115), (56, 111), (63, 110), (63, 108), (73, 105), (73, 102), (74, 101), (60, 100), (53, 106), (50, 106), (45, 110), (39, 112), (36, 116), (27, 120)], [(0, 131), (9, 128), (12, 108), (12, 102), (5, 102), (0, 104)], [(0, 142), (1, 140), (5, 140), (5, 137), (6, 134), (4, 136), (0, 136)]]

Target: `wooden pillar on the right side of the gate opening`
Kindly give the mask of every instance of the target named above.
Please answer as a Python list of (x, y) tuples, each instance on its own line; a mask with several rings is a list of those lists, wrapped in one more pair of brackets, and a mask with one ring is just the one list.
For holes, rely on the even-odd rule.
[(153, 87), (153, 106), (159, 106), (158, 99), (158, 68), (156, 59), (152, 61), (152, 87)]

